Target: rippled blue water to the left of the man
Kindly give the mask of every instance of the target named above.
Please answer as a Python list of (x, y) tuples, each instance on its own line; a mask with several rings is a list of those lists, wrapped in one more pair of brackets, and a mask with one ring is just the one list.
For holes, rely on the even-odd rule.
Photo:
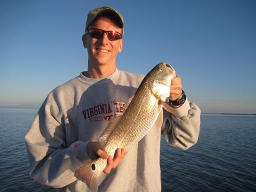
[(37, 110), (0, 108), (0, 191), (55, 191), (30, 178), (24, 143)]

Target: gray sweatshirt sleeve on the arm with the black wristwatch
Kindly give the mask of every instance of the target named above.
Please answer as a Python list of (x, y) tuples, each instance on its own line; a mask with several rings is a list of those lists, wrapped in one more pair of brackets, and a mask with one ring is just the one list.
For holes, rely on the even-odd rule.
[(186, 150), (197, 142), (200, 127), (200, 108), (187, 99), (175, 114), (163, 110), (161, 132), (166, 141), (177, 148)]

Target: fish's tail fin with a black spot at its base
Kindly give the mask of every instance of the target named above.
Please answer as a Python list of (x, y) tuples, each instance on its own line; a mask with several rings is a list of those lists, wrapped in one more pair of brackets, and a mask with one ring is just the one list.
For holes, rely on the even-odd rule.
[(106, 159), (97, 158), (78, 168), (74, 176), (82, 182), (85, 182), (91, 191), (96, 192), (98, 185), (104, 179), (105, 175), (103, 174), (103, 169), (105, 166)]

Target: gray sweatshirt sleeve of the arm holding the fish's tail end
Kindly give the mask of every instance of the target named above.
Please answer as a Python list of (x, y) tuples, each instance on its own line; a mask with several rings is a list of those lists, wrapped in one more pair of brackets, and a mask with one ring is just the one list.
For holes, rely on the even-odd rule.
[(37, 182), (63, 187), (75, 181), (74, 171), (85, 164), (87, 142), (66, 143), (68, 117), (52, 94), (38, 110), (25, 135), (30, 175)]

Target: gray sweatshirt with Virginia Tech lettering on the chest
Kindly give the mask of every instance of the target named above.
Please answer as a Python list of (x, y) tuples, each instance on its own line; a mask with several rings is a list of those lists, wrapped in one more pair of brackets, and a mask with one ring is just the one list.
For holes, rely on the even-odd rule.
[[(123, 110), (144, 75), (116, 69), (102, 79), (79, 76), (52, 90), (25, 135), (30, 175), (58, 191), (89, 191), (74, 172), (90, 159), (88, 141), (98, 141), (109, 120)], [(98, 191), (161, 191), (160, 137), (187, 149), (196, 143), (200, 109), (188, 100), (171, 114), (163, 111), (161, 130), (152, 127), (121, 163), (106, 175)]]

